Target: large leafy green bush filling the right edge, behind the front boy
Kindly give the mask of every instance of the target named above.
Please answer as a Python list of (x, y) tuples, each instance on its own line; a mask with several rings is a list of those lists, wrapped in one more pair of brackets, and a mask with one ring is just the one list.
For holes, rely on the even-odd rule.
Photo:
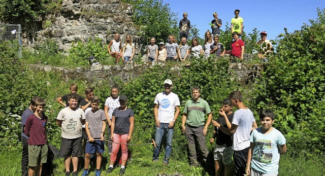
[(325, 10), (301, 30), (280, 34), (277, 53), (256, 85), (257, 108), (271, 107), (292, 149), (324, 154)]

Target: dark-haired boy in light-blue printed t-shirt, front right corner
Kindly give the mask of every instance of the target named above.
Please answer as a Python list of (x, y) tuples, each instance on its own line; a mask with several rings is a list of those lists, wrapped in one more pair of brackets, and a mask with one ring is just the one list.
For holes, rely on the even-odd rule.
[(262, 127), (253, 130), (250, 136), (250, 149), (247, 158), (247, 175), (278, 175), (280, 155), (286, 153), (283, 134), (272, 127), (272, 110), (259, 113)]

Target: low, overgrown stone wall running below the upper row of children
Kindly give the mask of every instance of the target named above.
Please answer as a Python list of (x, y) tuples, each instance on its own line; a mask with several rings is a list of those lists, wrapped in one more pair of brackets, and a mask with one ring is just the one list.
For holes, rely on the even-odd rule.
[[(119, 77), (123, 82), (128, 82), (133, 78), (137, 78), (143, 74), (146, 68), (152, 67), (154, 64), (164, 65), (164, 63), (146, 62), (137, 64), (135, 62), (126, 62), (124, 65), (98, 64), (89, 67), (64, 68), (53, 67), (51, 65), (30, 64), (30, 68), (44, 72), (52, 71), (61, 73), (64, 80), (84, 78), (85, 81), (105, 81), (112, 84), (115, 77)], [(161, 69), (164, 68), (162, 67)], [(173, 69), (180, 70), (181, 68), (175, 65)], [(264, 69), (264, 63), (231, 63), (229, 69), (233, 80), (236, 80), (241, 85), (247, 85), (254, 83), (255, 78), (261, 76), (261, 71)]]

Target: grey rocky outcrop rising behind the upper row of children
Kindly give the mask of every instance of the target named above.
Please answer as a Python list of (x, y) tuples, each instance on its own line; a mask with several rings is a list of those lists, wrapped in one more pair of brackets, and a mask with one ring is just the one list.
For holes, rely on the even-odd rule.
[(89, 38), (101, 38), (108, 44), (115, 33), (120, 33), (124, 41), (127, 33), (133, 37), (136, 47), (140, 37), (132, 22), (132, 6), (118, 0), (63, 0), (59, 15), (49, 15), (43, 21), (43, 30), (36, 32), (33, 41), (23, 40), (23, 44), (35, 46), (46, 39), (52, 39), (59, 50), (67, 51), (72, 42), (87, 42)]

